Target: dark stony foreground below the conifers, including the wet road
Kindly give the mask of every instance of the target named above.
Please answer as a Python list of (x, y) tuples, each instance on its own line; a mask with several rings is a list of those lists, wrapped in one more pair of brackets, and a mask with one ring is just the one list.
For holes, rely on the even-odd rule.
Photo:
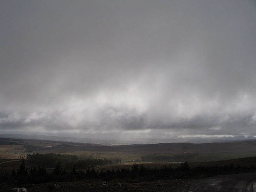
[[(51, 182), (46, 184), (32, 184), (22, 187), (25, 187), (28, 192), (256, 192), (256, 172), (220, 175), (194, 180), (157, 180), (135, 183), (83, 180), (67, 183)], [(2, 191), (10, 191), (10, 189), (10, 186), (2, 186)]]

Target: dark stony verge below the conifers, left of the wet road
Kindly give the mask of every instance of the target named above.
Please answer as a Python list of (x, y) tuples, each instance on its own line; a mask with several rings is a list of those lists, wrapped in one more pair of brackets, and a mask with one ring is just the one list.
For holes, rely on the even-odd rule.
[(28, 192), (118, 192), (118, 191), (170, 191), (171, 188), (182, 185), (185, 180), (158, 180), (147, 182), (118, 182), (118, 181), (74, 181), (51, 182), (47, 184), (31, 184), (22, 186)]

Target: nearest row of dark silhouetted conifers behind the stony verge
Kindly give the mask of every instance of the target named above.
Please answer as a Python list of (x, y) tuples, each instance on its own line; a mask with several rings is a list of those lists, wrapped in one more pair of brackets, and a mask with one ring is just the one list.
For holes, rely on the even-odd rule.
[(22, 161), (19, 168), (13, 168), (12, 173), (8, 174), (3, 172), (0, 174), (0, 182), (7, 183), (45, 183), (50, 181), (73, 181), (80, 179), (100, 179), (100, 180), (113, 180), (122, 179), (129, 181), (149, 181), (158, 179), (191, 179), (191, 178), (204, 178), (220, 174), (234, 174), (242, 172), (255, 171), (255, 166), (240, 166), (240, 165), (214, 165), (214, 166), (198, 166), (189, 167), (188, 163), (181, 164), (180, 167), (172, 168), (172, 166), (165, 166), (162, 168), (150, 168), (133, 164), (131, 169), (122, 167), (121, 169), (112, 169), (103, 171), (95, 171), (94, 167), (86, 169), (78, 169), (74, 164), (70, 171), (67, 171), (60, 162), (57, 162), (54, 170), (48, 172), (45, 167), (31, 167), (28, 169), (25, 162)]

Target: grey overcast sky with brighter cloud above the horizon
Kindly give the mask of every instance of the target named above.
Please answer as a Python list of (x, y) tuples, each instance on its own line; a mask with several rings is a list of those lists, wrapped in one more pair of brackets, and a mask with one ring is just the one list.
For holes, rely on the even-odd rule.
[(0, 1), (0, 133), (256, 137), (255, 0)]

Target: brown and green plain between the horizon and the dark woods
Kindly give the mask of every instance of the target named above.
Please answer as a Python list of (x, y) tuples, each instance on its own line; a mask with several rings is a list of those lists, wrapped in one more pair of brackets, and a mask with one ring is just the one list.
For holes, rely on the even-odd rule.
[(256, 156), (256, 140), (226, 143), (159, 143), (104, 146), (49, 140), (0, 138), (0, 159), (19, 159), (33, 153), (60, 153), (81, 158), (121, 158), (122, 162), (138, 162), (141, 156), (169, 156), (165, 160), (145, 162), (207, 162)]

